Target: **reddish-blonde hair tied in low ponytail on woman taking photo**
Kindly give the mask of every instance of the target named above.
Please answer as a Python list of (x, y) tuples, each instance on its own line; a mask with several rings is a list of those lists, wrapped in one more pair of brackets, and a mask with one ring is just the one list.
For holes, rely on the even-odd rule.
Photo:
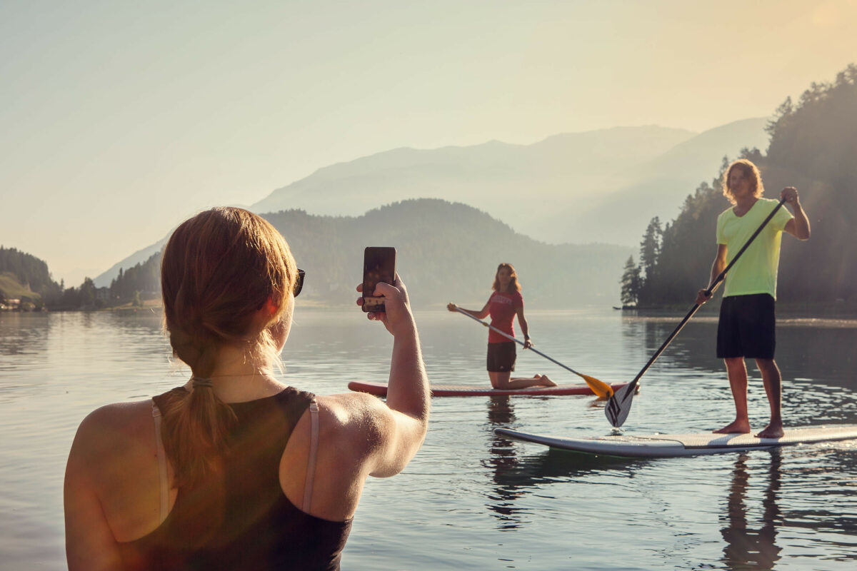
[[(215, 208), (190, 218), (171, 235), (161, 259), (173, 354), (195, 379), (211, 377), (225, 345), (269, 357), (268, 329), (279, 321), (296, 279), (288, 245), (263, 218), (240, 208)], [(257, 330), (255, 316), (269, 302), (276, 311)], [(193, 383), (189, 392), (172, 390), (162, 413), (174, 485), (195, 485), (217, 469), (235, 413), (204, 382)]]

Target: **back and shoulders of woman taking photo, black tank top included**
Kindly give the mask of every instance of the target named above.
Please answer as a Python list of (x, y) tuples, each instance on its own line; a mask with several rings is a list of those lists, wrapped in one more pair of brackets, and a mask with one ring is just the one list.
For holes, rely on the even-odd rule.
[[(181, 391), (186, 389), (153, 401), (165, 407), (167, 397)], [(66, 473), (67, 543), (99, 550), (85, 554), (87, 561), (95, 555), (99, 565), (81, 562), (81, 568), (339, 568), (371, 467), (367, 459), (377, 448), (366, 429), (375, 425), (370, 432), (382, 431), (372, 410), (381, 401), (362, 394), (317, 397), (312, 461), (312, 399), (288, 387), (231, 402), (236, 422), (218, 470), (180, 490), (171, 486), (169, 461), (165, 479), (159, 473), (164, 451), (156, 440), (153, 401), (108, 405), (90, 414), (75, 437)], [(315, 473), (308, 480), (310, 466)], [(87, 516), (96, 509), (99, 514)], [(100, 547), (92, 528), (81, 526), (87, 517), (104, 521)]]

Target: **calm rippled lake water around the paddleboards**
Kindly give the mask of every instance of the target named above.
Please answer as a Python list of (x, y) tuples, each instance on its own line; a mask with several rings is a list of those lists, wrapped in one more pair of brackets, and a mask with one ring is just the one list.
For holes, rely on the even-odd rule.
[[(608, 382), (629, 381), (678, 318), (528, 312), (537, 347)], [(488, 383), (485, 330), (417, 312), (436, 384)], [(716, 323), (695, 318), (643, 378), (626, 433), (710, 431), (733, 418)], [(360, 312), (301, 311), (285, 380), (319, 394), (386, 380), (391, 337)], [(788, 425), (857, 424), (857, 324), (780, 324)], [(518, 353), (518, 373), (571, 373)], [(93, 408), (187, 377), (152, 313), (0, 314), (0, 569), (63, 569), (63, 469)], [(754, 428), (768, 407), (758, 372)], [(345, 569), (854, 569), (857, 443), (664, 460), (560, 453), (494, 436), (504, 426), (606, 435), (591, 397), (440, 398), (404, 473), (370, 479)]]

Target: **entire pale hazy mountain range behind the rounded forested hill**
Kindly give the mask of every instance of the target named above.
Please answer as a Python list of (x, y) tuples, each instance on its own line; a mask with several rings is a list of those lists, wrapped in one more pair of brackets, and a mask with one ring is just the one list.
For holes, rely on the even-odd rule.
[(536, 240), (634, 245), (650, 217), (674, 216), (724, 155), (766, 146), (764, 123), (747, 119), (702, 134), (648, 126), (558, 134), (533, 145), (395, 149), (317, 170), (251, 210), (355, 216), (404, 198), (440, 198), (475, 206)]

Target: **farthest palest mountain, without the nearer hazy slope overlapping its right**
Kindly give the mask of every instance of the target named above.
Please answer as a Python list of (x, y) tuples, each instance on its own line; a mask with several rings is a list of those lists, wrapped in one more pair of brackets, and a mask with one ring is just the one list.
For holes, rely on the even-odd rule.
[[(439, 198), (475, 206), (520, 229), (572, 198), (590, 199), (588, 188), (692, 136), (682, 129), (650, 126), (558, 134), (533, 145), (490, 141), (394, 149), (317, 170), (273, 191), (251, 210), (297, 208), (357, 216), (396, 200)], [(539, 207), (532, 208), (534, 203)]]

